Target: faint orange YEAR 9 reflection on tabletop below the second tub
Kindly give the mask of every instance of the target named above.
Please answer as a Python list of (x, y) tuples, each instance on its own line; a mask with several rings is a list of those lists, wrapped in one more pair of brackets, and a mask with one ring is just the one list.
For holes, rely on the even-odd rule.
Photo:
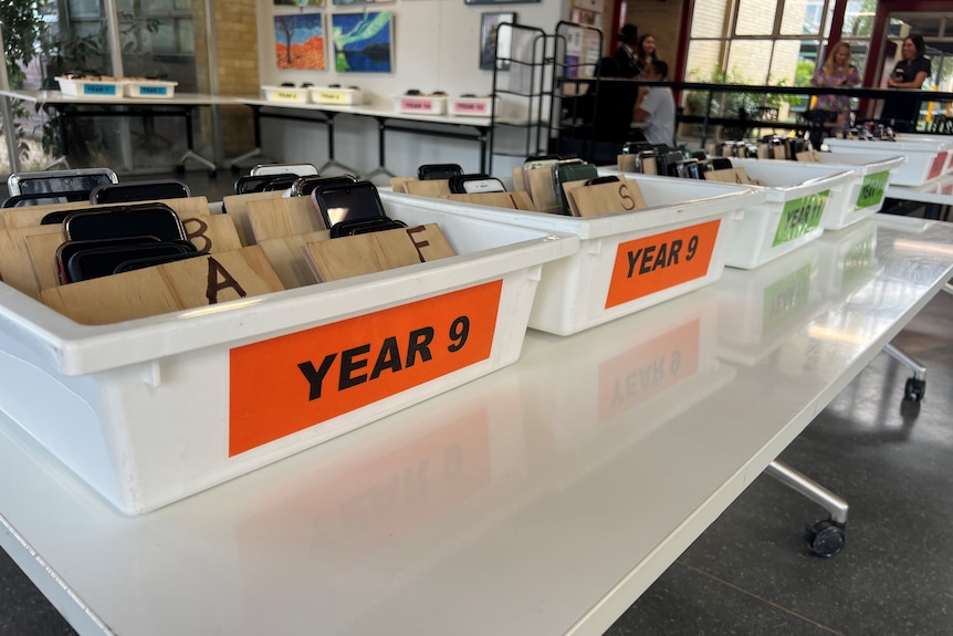
[(599, 421), (697, 374), (700, 330), (700, 321), (693, 320), (599, 365)]

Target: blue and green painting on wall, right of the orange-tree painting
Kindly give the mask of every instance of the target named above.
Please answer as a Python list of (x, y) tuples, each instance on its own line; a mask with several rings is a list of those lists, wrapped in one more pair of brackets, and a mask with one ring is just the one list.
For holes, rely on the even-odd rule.
[(336, 13), (331, 17), (334, 67), (338, 73), (390, 73), (390, 11)]

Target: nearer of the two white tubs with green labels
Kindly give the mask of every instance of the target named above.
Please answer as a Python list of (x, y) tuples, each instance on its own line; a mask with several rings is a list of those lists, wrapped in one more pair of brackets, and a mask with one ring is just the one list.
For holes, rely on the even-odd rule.
[(778, 159), (731, 161), (765, 184), (750, 187), (764, 190), (767, 200), (745, 209), (725, 260), (730, 267), (753, 269), (796, 250), (824, 233), (821, 219), (829, 209), (853, 205), (847, 191), (855, 178), (850, 169)]

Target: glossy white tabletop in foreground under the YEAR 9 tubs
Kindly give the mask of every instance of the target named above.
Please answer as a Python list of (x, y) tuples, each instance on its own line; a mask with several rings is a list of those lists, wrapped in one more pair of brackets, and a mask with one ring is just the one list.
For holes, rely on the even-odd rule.
[(84, 634), (601, 634), (943, 286), (951, 244), (878, 215), (531, 331), (511, 367), (140, 518), (2, 420), (0, 543)]

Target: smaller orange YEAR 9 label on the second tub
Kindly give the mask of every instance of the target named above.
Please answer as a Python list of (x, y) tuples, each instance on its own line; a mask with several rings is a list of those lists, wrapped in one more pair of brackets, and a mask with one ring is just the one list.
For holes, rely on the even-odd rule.
[(705, 275), (720, 220), (621, 243), (606, 309)]

